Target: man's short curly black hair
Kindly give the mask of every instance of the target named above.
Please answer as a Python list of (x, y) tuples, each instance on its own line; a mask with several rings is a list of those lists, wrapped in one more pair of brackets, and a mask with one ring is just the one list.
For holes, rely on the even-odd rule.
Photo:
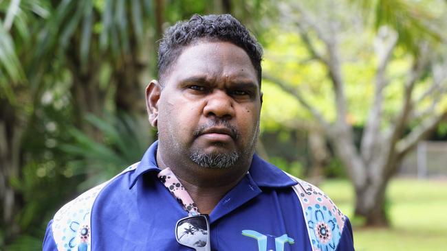
[(182, 49), (197, 40), (230, 42), (241, 47), (257, 71), (261, 87), (261, 60), (263, 50), (248, 29), (230, 14), (200, 16), (194, 14), (189, 21), (180, 21), (164, 32), (158, 49), (158, 78), (162, 83), (167, 70), (182, 53)]

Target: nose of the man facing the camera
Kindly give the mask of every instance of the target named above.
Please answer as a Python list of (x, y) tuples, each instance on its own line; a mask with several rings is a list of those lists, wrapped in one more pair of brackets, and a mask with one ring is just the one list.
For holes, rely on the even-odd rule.
[(215, 90), (207, 97), (204, 115), (215, 116), (222, 119), (235, 117), (233, 100), (225, 91)]

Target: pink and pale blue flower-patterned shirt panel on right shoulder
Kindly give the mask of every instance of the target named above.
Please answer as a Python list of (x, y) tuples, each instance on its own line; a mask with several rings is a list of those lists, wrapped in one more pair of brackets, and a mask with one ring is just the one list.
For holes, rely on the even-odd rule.
[(318, 187), (290, 177), (298, 182), (294, 191), (303, 208), (312, 250), (336, 250), (345, 226), (345, 215)]

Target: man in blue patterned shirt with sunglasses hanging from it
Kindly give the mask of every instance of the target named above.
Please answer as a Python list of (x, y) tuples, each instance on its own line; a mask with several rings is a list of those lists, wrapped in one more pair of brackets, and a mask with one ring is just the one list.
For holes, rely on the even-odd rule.
[(63, 206), (43, 249), (353, 250), (349, 220), (324, 193), (254, 154), (261, 57), (228, 14), (168, 29), (146, 88), (158, 141)]

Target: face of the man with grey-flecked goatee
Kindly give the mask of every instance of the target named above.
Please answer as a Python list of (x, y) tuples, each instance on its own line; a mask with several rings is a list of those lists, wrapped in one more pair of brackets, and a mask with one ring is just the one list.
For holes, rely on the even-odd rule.
[(155, 110), (167, 157), (213, 168), (251, 159), (261, 91), (247, 53), (232, 43), (199, 41), (168, 71)]

